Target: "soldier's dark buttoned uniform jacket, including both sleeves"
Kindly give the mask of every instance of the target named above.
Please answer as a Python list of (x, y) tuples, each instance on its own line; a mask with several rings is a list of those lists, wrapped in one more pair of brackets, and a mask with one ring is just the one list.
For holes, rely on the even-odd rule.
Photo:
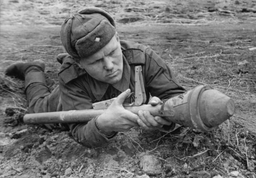
[[(64, 59), (58, 74), (60, 103), (63, 111), (92, 109), (92, 103), (117, 97), (121, 92), (135, 91), (135, 66), (141, 65), (147, 101), (149, 96), (168, 99), (185, 89), (175, 79), (172, 71), (150, 48), (120, 40), (123, 53), (122, 79), (114, 85), (100, 82), (90, 76), (69, 56)], [(101, 133), (95, 125), (96, 118), (87, 123), (71, 123), (69, 129), (74, 139), (87, 147), (102, 147), (113, 138)]]

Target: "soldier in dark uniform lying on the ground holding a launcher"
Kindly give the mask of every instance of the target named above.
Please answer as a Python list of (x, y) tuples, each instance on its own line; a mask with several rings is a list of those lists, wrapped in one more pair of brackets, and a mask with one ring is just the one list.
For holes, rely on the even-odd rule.
[(103, 114), (89, 122), (66, 125), (74, 139), (87, 147), (102, 147), (117, 132), (132, 127), (174, 128), (174, 123), (149, 111), (136, 115), (122, 106), (131, 102), (127, 97), (135, 90), (134, 68), (138, 65), (142, 67), (146, 103), (155, 106), (185, 89), (153, 50), (120, 40), (110, 14), (95, 7), (83, 9), (65, 19), (60, 37), (68, 54), (57, 56), (62, 63), (59, 86), (51, 93), (45, 83), (43, 61), (14, 63), (6, 70), (6, 75), (25, 79), (29, 113), (91, 109), (92, 103), (117, 97)]

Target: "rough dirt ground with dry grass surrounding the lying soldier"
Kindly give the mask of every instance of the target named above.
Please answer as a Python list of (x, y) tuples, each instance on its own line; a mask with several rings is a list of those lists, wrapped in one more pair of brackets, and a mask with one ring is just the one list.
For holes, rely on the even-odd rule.
[[(255, 0), (0, 2), (0, 178), (256, 178)], [(155, 50), (186, 89), (210, 85), (233, 98), (234, 116), (208, 133), (133, 128), (96, 149), (67, 131), (19, 122), (24, 82), (5, 77), (5, 68), (43, 59), (52, 90), (64, 52), (60, 25), (89, 6), (115, 17), (121, 39)]]

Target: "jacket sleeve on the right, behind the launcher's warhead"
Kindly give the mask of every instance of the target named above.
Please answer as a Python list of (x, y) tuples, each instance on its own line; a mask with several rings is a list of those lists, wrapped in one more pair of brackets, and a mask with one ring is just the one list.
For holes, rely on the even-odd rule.
[(186, 91), (175, 78), (170, 67), (149, 48), (146, 50), (144, 76), (151, 96), (157, 96), (161, 100), (172, 98)]

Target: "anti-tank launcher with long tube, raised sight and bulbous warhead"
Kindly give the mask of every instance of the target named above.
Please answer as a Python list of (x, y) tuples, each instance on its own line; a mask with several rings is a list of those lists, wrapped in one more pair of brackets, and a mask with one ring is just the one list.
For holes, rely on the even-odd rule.
[[(136, 113), (149, 111), (153, 116), (201, 131), (210, 131), (229, 119), (235, 111), (234, 101), (227, 95), (210, 86), (197, 86), (183, 94), (170, 98), (156, 106), (143, 104), (146, 101), (141, 66), (135, 69), (135, 102), (125, 105), (126, 110)], [(82, 123), (102, 114), (113, 99), (94, 103), (91, 110), (70, 110), (50, 113), (26, 114), (23, 122), (27, 124)]]

